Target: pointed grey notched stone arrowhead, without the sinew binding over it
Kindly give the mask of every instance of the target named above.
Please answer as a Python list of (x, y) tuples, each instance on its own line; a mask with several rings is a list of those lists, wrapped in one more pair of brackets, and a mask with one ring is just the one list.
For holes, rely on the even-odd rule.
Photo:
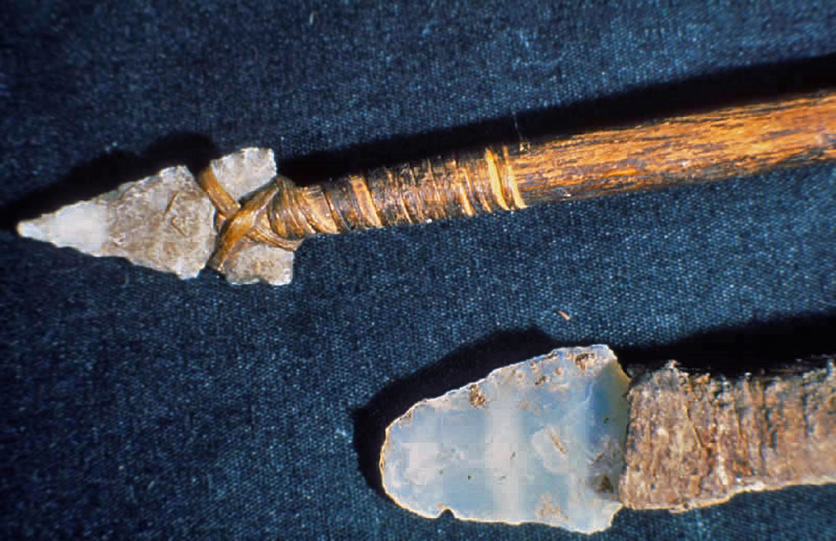
[[(218, 181), (235, 199), (276, 174), (273, 151), (242, 149), (212, 162)], [(212, 202), (184, 166), (18, 224), (20, 235), (69, 246), (89, 255), (125, 257), (135, 265), (193, 278), (212, 255), (217, 233)], [(232, 284), (265, 281), (281, 286), (293, 277), (293, 252), (242, 243), (224, 265)]]

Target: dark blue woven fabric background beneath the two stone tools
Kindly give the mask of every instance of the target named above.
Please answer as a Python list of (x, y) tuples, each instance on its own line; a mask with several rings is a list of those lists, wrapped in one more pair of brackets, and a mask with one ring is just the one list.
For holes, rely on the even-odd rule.
[[(397, 508), (383, 427), (553, 346), (725, 372), (836, 350), (834, 166), (319, 237), (280, 288), (12, 230), (247, 145), (304, 180), (833, 86), (836, 3), (34, 4), (0, 9), (0, 537), (581, 538)], [(834, 508), (789, 488), (599, 538), (836, 538)]]

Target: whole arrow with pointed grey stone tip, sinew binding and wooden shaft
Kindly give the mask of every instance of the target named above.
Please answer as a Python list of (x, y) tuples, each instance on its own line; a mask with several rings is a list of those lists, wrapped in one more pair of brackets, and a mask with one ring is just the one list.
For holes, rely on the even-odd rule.
[[(776, 99), (567, 137), (453, 150), (299, 186), (244, 149), (23, 222), (21, 235), (184, 278), (286, 284), (311, 235), (524, 209), (836, 160), (836, 93)], [(214, 218), (213, 218), (214, 216)]]

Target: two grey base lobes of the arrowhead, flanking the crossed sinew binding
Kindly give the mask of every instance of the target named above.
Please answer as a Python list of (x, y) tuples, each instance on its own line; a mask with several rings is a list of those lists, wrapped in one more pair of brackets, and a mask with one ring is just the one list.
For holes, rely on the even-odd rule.
[[(236, 200), (252, 194), (276, 176), (271, 149), (242, 149), (212, 161), (210, 167), (224, 190)], [(221, 271), (235, 285), (263, 281), (283, 286), (293, 280), (293, 252), (243, 240)]]

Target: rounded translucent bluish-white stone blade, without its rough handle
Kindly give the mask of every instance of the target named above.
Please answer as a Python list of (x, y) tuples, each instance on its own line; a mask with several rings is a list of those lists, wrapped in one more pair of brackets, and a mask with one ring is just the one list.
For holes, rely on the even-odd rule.
[(418, 402), (386, 429), (385, 491), (427, 518), (608, 528), (629, 382), (608, 347), (568, 348)]

